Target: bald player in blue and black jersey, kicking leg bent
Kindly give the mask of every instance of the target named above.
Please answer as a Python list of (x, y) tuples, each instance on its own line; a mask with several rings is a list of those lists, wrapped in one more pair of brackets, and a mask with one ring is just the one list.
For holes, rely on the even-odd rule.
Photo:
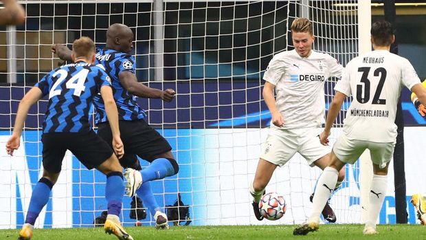
[[(117, 102), (121, 137), (126, 155), (120, 163), (126, 168), (124, 176), (127, 179), (126, 193), (133, 197), (135, 193), (154, 215), (157, 228), (168, 228), (167, 216), (155, 201), (150, 187), (150, 181), (163, 179), (177, 174), (179, 166), (173, 156), (170, 144), (155, 129), (144, 120), (146, 113), (137, 105), (135, 97), (161, 98), (170, 102), (175, 98), (173, 89), (161, 91), (137, 82), (135, 76), (135, 58), (131, 56), (133, 50), (133, 32), (128, 26), (115, 23), (106, 31), (106, 47), (98, 49), (96, 63), (102, 65), (111, 76), (115, 102)], [(59, 58), (70, 61), (70, 50), (65, 45), (52, 45), (52, 52)], [(109, 119), (104, 113), (102, 98), (97, 98), (96, 124), (98, 135), (104, 140), (111, 139)], [(135, 157), (138, 155), (150, 162), (150, 165), (141, 170)]]

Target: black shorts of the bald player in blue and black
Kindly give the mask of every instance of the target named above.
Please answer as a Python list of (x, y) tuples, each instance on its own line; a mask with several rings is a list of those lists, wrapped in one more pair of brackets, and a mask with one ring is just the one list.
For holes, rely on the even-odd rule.
[[(98, 125), (98, 135), (112, 145), (113, 137), (108, 122)], [(120, 159), (120, 164), (124, 168), (135, 168), (135, 163), (138, 163), (136, 155), (151, 162), (151, 157), (172, 150), (167, 140), (143, 119), (120, 120), (120, 138), (124, 144), (124, 156)]]

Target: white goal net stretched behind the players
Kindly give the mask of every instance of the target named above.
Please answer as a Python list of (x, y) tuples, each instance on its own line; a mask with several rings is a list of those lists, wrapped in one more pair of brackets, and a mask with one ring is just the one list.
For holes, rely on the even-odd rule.
[[(270, 115), (262, 100), (262, 76), (274, 54), (292, 50), (289, 26), (296, 17), (313, 21), (313, 48), (346, 63), (357, 56), (357, 1), (21, 1), (25, 25), (0, 27), (0, 142), (12, 133), (23, 94), (63, 61), (50, 51), (52, 43), (71, 47), (89, 36), (104, 47), (106, 29), (124, 23), (135, 34), (136, 75), (159, 89), (172, 88), (170, 103), (138, 99), (147, 120), (172, 145), (179, 174), (152, 183), (163, 208), (180, 195), (188, 215), (175, 223), (193, 225), (301, 223), (311, 211), (318, 168), (300, 155), (276, 172), (267, 186), (287, 202), (279, 221), (257, 221), (251, 209), (249, 182), (254, 178), (260, 145)], [(336, 79), (326, 82), (326, 106)], [(21, 148), (13, 157), (0, 151), (0, 228), (19, 228), (25, 219), (32, 188), (42, 174), (41, 126), (47, 100), (30, 110)], [(348, 107), (345, 104), (343, 110)], [(341, 127), (344, 111), (337, 120)], [(339, 134), (333, 128), (330, 144)], [(143, 166), (147, 162), (141, 160)], [(330, 199), (338, 223), (359, 222), (359, 168), (346, 166), (346, 179)], [(106, 178), (88, 171), (71, 153), (49, 203), (36, 221), (39, 228), (93, 226), (106, 210)], [(121, 219), (129, 218), (124, 197)], [(148, 211), (147, 211), (148, 213)], [(181, 221), (178, 221), (181, 220)], [(140, 221), (153, 225), (149, 214)]]

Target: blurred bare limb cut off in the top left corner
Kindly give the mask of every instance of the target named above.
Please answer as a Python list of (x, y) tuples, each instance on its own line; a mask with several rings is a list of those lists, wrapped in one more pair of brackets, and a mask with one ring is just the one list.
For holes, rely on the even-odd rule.
[(3, 0), (0, 9), (0, 25), (20, 25), (25, 22), (25, 10), (16, 0)]

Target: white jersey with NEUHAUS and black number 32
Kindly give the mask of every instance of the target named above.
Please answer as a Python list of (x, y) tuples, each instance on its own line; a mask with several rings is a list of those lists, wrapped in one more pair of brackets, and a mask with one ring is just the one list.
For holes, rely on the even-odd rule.
[(346, 65), (335, 86), (353, 96), (344, 132), (350, 139), (370, 142), (394, 142), (396, 106), (403, 85), (412, 89), (421, 83), (411, 63), (386, 50), (357, 56)]

